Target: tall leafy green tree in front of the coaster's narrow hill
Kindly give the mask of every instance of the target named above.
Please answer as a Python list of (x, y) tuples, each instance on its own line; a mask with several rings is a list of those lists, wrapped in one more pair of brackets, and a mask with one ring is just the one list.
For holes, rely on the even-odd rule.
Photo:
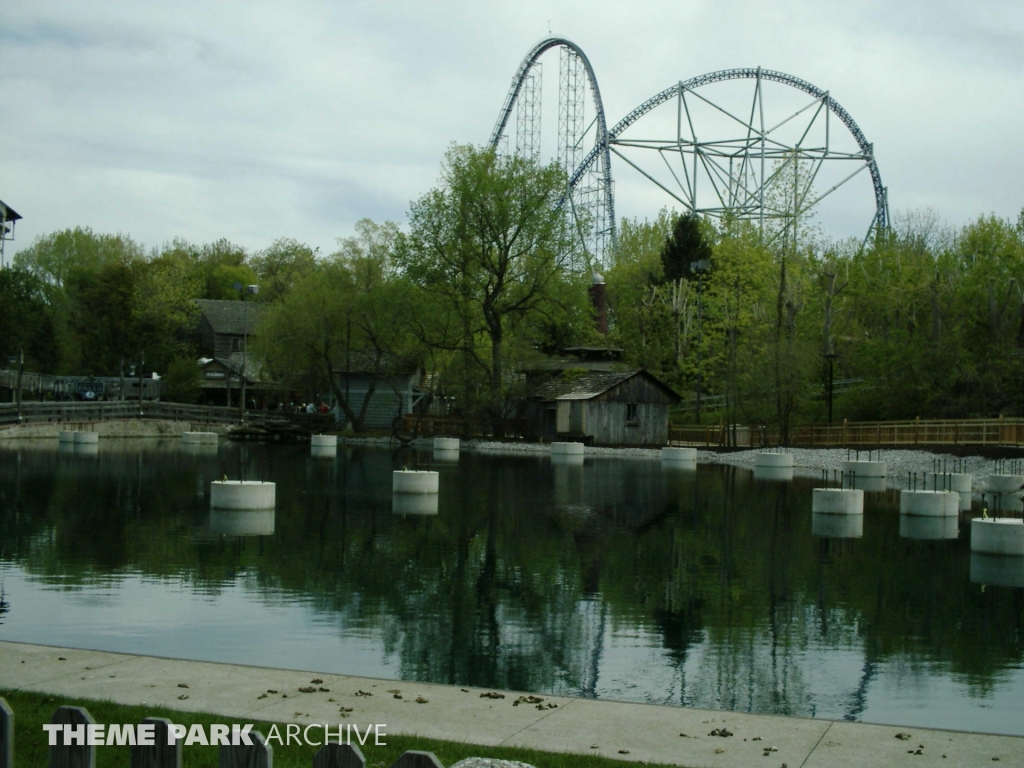
[(557, 164), (453, 146), (440, 186), (410, 211), (399, 266), (434, 299), (419, 327), (483, 375), (495, 434), (511, 385), (509, 348), (542, 321), (580, 322), (586, 294), (565, 268), (575, 246), (558, 205), (564, 190)]

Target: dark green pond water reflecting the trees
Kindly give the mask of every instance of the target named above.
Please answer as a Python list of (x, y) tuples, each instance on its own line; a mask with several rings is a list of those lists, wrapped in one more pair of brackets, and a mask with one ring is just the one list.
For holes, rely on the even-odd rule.
[[(308, 452), (0, 447), (0, 639), (1024, 735), (1024, 590), (972, 582), (966, 523), (901, 537), (892, 492), (841, 539), (799, 478)], [(401, 466), (436, 514), (392, 511)], [(219, 532), (223, 474), (278, 483), (262, 536)]]

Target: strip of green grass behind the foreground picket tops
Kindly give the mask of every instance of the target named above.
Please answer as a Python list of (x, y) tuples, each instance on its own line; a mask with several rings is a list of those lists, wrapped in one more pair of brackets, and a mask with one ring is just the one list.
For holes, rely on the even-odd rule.
[[(205, 713), (178, 712), (160, 707), (129, 707), (96, 699), (68, 699), (46, 693), (29, 693), (23, 691), (0, 690), (0, 695), (14, 711), (14, 765), (45, 766), (47, 765), (48, 748), (43, 724), (48, 723), (53, 711), (61, 705), (84, 707), (97, 723), (138, 723), (147, 717), (168, 718), (174, 723), (190, 726), (199, 723), (207, 727), (213, 723), (231, 723), (230, 718)], [(258, 721), (253, 730), (266, 735), (271, 723)], [(279, 730), (284, 734), (283, 724)], [(323, 732), (321, 732), (321, 735)], [(368, 768), (389, 768), (398, 757), (408, 750), (432, 752), (444, 766), (451, 766), (468, 757), (500, 758), (518, 760), (537, 768), (624, 768), (630, 763), (610, 758), (600, 758), (593, 755), (573, 755), (537, 750), (525, 750), (517, 746), (478, 746), (462, 741), (440, 741), (437, 739), (420, 738), (417, 736), (387, 735), (386, 745), (375, 746), (373, 737), (366, 745), (360, 745), (367, 759)], [(273, 746), (274, 768), (310, 768), (313, 755), (317, 748), (306, 744), (282, 745), (276, 741)], [(183, 768), (217, 768), (216, 746), (191, 745), (182, 748)], [(127, 746), (97, 746), (96, 768), (127, 768), (129, 762)], [(634, 765), (636, 765), (634, 763)], [(655, 768), (669, 768), (660, 764), (648, 763)]]

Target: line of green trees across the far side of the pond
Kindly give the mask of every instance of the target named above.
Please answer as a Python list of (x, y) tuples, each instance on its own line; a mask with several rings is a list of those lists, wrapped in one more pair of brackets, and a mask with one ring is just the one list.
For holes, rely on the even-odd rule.
[(523, 372), (580, 345), (663, 379), (684, 396), (679, 420), (783, 437), (827, 418), (829, 371), (846, 382), (835, 419), (1024, 414), (1024, 212), (961, 227), (914, 212), (865, 241), (829, 241), (806, 216), (626, 219), (602, 336), (594, 275), (570, 268), (589, 254), (564, 188), (557, 165), (453, 146), (406, 227), (362, 220), (331, 254), (287, 239), (147, 252), (126, 234), (53, 232), (0, 271), (0, 364), (24, 350), (29, 370), (117, 375), (144, 353), (172, 397), (195, 398), (196, 300), (258, 284), (263, 375), (333, 395), (356, 428), (369, 400), (347, 400), (353, 359), (371, 391), (422, 364), (435, 396), (500, 432)]

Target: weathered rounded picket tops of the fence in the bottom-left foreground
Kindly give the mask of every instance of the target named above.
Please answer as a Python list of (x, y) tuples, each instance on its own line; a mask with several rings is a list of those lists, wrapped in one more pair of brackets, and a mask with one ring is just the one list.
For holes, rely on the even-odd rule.
[[(95, 768), (96, 748), (85, 744), (85, 735), (95, 721), (83, 707), (59, 707), (50, 718), (54, 725), (70, 726), (76, 736), (67, 740), (80, 743), (66, 744), (63, 734), (58, 743), (49, 748), (49, 768)], [(171, 722), (164, 718), (145, 718), (139, 725), (147, 726), (153, 743), (128, 745), (131, 750), (131, 768), (181, 768), (181, 739), (170, 732)], [(134, 736), (134, 733), (132, 734)], [(249, 731), (251, 744), (221, 744), (218, 761), (221, 768), (271, 768), (273, 749), (259, 731)], [(131, 740), (136, 740), (132, 738)], [(241, 739), (239, 739), (241, 740)], [(14, 713), (0, 698), (0, 768), (14, 765)], [(325, 744), (313, 756), (312, 768), (366, 768), (367, 761), (355, 744)], [(432, 753), (407, 752), (391, 768), (444, 768)]]

